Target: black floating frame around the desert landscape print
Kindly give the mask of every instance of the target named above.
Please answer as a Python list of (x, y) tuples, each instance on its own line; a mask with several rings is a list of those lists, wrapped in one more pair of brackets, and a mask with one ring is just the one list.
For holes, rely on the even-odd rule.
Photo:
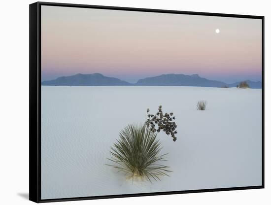
[[(251, 18), (262, 20), (262, 185), (260, 186), (246, 186), (246, 187), (229, 187), (229, 188), (214, 188), (214, 189), (200, 189), (187, 191), (170, 191), (170, 192), (156, 192), (156, 193), (140, 193), (140, 194), (124, 194), (124, 195), (110, 195), (110, 196), (94, 196), (94, 197), (75, 197), (75, 198), (61, 198), (61, 199), (46, 199), (41, 200), (41, 27), (40, 27), (40, 10), (41, 5), (50, 6), (67, 6), (80, 8), (99, 8), (99, 9), (113, 9), (126, 11), (146, 11), (158, 13), (174, 13), (174, 14), (191, 14), (202, 16), (219, 16), (219, 17), (233, 17), (233, 18)], [(52, 2), (35, 2), (29, 7), (29, 69), (30, 69), (30, 112), (29, 112), (29, 199), (36, 203), (45, 202), (60, 202), (60, 201), (74, 201), (74, 200), (90, 200), (90, 199), (106, 199), (106, 198), (121, 198), (121, 197), (137, 197), (137, 196), (153, 196), (153, 195), (169, 195), (169, 194), (183, 194), (183, 193), (197, 193), (197, 192), (213, 192), (213, 191), (229, 191), (229, 190), (244, 190), (244, 189), (261, 189), (264, 188), (264, 16), (251, 15), (236, 15), (236, 14), (221, 14), (221, 13), (204, 13), (191, 11), (175, 11), (175, 10), (161, 10), (161, 9), (146, 9), (146, 8), (129, 8), (129, 7), (114, 7), (114, 6), (100, 6), (100, 5), (83, 5), (70, 3), (52, 3)]]

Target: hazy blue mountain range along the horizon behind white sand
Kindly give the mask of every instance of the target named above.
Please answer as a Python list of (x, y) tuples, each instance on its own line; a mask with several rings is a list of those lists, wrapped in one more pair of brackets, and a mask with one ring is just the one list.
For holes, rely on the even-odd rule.
[[(246, 81), (251, 88), (262, 88), (262, 82)], [(221, 81), (209, 80), (198, 74), (163, 74), (139, 79), (136, 83), (129, 83), (114, 77), (107, 77), (101, 73), (75, 74), (58, 77), (55, 80), (45, 80), (41, 85), (51, 86), (198, 86), (198, 87), (236, 87), (240, 82), (227, 84)]]

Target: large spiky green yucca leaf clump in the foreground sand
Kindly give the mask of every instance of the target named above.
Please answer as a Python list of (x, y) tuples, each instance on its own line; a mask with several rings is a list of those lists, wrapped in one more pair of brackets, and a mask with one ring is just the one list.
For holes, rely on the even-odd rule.
[(147, 126), (128, 125), (119, 134), (119, 139), (111, 147), (112, 166), (124, 171), (132, 179), (141, 178), (160, 180), (160, 177), (169, 172), (167, 166), (161, 165), (166, 161), (160, 155), (161, 142), (156, 138), (157, 133), (150, 131)]

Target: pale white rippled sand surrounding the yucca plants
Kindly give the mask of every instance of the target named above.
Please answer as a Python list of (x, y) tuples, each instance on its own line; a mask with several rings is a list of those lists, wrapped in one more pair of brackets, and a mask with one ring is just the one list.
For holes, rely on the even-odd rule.
[[(261, 185), (261, 89), (101, 86), (41, 88), (41, 198)], [(198, 111), (198, 100), (208, 102)], [(146, 109), (174, 112), (177, 141), (160, 133), (170, 177), (127, 180), (106, 166), (110, 146)]]

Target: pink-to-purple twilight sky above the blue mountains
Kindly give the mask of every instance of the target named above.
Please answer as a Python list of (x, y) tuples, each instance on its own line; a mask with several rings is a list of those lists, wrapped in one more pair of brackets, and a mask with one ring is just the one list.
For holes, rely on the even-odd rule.
[(42, 80), (95, 72), (128, 82), (167, 73), (258, 81), (262, 21), (42, 5)]

